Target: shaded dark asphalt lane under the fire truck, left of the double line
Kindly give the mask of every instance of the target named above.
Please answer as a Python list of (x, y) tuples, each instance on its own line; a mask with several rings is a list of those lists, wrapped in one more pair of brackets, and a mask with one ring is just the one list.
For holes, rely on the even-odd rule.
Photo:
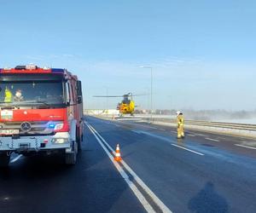
[(78, 163), (12, 156), (0, 170), (0, 212), (145, 212), (90, 130)]

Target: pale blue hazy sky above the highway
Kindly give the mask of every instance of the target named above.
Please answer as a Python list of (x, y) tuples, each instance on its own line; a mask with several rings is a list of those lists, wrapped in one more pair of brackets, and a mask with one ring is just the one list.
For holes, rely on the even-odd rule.
[[(154, 108), (255, 109), (256, 1), (0, 0), (0, 66), (66, 67), (92, 95)], [(109, 99), (116, 107), (119, 99)], [(137, 105), (148, 107), (148, 96)]]

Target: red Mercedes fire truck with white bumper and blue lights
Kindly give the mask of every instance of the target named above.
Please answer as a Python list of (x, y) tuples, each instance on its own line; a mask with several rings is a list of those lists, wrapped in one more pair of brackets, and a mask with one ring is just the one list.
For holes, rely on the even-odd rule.
[(65, 69), (0, 69), (0, 167), (11, 153), (59, 153), (75, 164), (83, 140), (83, 95)]

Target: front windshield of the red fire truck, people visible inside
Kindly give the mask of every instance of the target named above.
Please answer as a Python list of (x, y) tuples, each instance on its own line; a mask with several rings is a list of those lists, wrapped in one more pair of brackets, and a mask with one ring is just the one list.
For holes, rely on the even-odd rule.
[(0, 82), (0, 106), (58, 107), (63, 105), (63, 83), (59, 81)]

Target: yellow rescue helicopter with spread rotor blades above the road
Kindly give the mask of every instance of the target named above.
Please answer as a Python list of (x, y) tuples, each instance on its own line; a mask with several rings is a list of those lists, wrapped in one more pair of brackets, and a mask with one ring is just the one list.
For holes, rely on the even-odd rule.
[[(119, 110), (119, 114), (120, 115), (124, 115), (124, 114), (134, 114), (134, 110), (135, 110), (135, 102), (132, 99), (132, 96), (139, 96), (139, 95), (132, 95), (132, 93), (128, 93), (125, 95), (94, 95), (94, 97), (97, 98), (116, 98), (116, 97), (123, 97), (123, 100), (118, 103), (117, 106), (117, 110)], [(131, 99), (129, 99), (129, 97), (131, 97)]]

